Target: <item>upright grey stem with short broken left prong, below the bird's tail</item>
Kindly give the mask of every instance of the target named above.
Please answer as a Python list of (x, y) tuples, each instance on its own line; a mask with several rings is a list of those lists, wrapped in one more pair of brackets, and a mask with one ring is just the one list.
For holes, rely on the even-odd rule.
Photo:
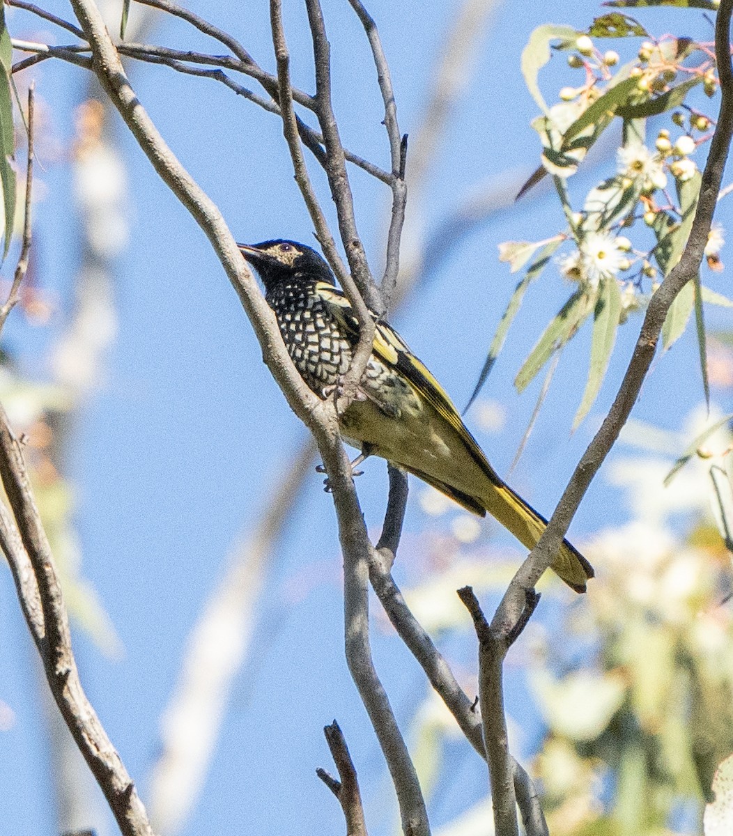
[(491, 782), (494, 829), (501, 836), (519, 836), (513, 764), (504, 716), (503, 663), (508, 645), (500, 633), (491, 630), (470, 586), (459, 589), (458, 597), (471, 613), (479, 641), (479, 701)]

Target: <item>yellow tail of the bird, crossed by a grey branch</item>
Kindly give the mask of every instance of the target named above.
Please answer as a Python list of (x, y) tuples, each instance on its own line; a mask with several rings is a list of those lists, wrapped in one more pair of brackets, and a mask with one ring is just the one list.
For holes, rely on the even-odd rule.
[[(481, 497), (483, 505), (496, 519), (527, 548), (534, 548), (547, 527), (547, 520), (527, 505), (503, 482), (491, 483), (488, 495)], [(562, 541), (560, 551), (550, 563), (557, 575), (576, 592), (585, 592), (585, 583), (593, 578), (593, 566), (567, 540)]]

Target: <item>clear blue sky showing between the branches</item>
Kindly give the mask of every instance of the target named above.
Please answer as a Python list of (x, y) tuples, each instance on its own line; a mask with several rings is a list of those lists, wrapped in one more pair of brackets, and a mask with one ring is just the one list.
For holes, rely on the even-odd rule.
[[(58, 13), (66, 13), (65, 4), (56, 5)], [(420, 125), (430, 71), (454, 5), (407, 0), (397, 15), (394, 3), (369, 3), (392, 70), (400, 128), (407, 133)], [(266, 3), (198, 0), (190, 6), (274, 68)], [(386, 165), (379, 94), (364, 35), (347, 3), (328, 0), (323, 6), (344, 144)], [(506, 171), (529, 172), (537, 165), (537, 135), (528, 125), (536, 105), (519, 72), (521, 49), (540, 23), (583, 28), (599, 13), (588, 0), (563, 9), (564, 19), (557, 4), (521, 0), (496, 9), (420, 206), (428, 228), (476, 184)], [(650, 28), (664, 31), (656, 24), (662, 13), (641, 10), (639, 18), (643, 12)], [(285, 18), (293, 78), (310, 89), (300, 4), (287, 3)], [(10, 20), (11, 27), (18, 26), (13, 34), (23, 37), (28, 32), (28, 18), (16, 14)], [(666, 27), (674, 29), (680, 20), (694, 20), (689, 28), (705, 30), (698, 13), (664, 12)], [(180, 48), (222, 51), (165, 18), (148, 37)], [(53, 130), (68, 142), (70, 109), (82, 95), (83, 71), (48, 62), (33, 72)], [(547, 78), (548, 95), (568, 83), (562, 80), (562, 66), (552, 67)], [(160, 131), (221, 207), (237, 240), (288, 237), (312, 242), (311, 223), (272, 115), (223, 85), (170, 69), (138, 65), (132, 79)], [(186, 635), (227, 554), (257, 517), (303, 430), (262, 364), (252, 329), (206, 238), (155, 176), (120, 120), (115, 130), (128, 166), (131, 217), (130, 247), (120, 257), (115, 279), (119, 334), (106, 358), (104, 381), (79, 416), (65, 475), (74, 484), (84, 574), (99, 591), (125, 645), (121, 659), (108, 660), (77, 630), (82, 678), (145, 800), (159, 748), (160, 712), (176, 681)], [(609, 164), (613, 167), (613, 160)], [(23, 369), (38, 380), (48, 375), (43, 349), (49, 334), (63, 328), (78, 259), (68, 172), (52, 165), (42, 176), (47, 194), (38, 206), (38, 281), (59, 298), (59, 310), (43, 334), (28, 334), (18, 323), (8, 328)], [(318, 173), (314, 177), (330, 212), (323, 178)], [(583, 180), (586, 187), (593, 178), (599, 179), (597, 171)], [(378, 269), (387, 190), (359, 174), (353, 185), (359, 226)], [(723, 211), (730, 214), (725, 205)], [(527, 197), (461, 242), (394, 319), (459, 405), (471, 394), (515, 283), (506, 265), (497, 262), (496, 244), (552, 234), (561, 224), (559, 207), (547, 193)], [(714, 286), (725, 292), (725, 274)], [(507, 415), (499, 434), (476, 431), (500, 473), (512, 461), (538, 391), (536, 381), (518, 396), (513, 376), (567, 293), (548, 271), (527, 298), (484, 391)], [(716, 316), (711, 313), (714, 322)], [(512, 476), (512, 485), (538, 509), (551, 511), (598, 426), (639, 322), (632, 319), (619, 330), (608, 380), (573, 436), (569, 427), (584, 384), (588, 334), (580, 334), (563, 354), (542, 416)], [(700, 396), (695, 340), (688, 334), (655, 363), (635, 415), (676, 428)], [(372, 461), (366, 471), (359, 495), (369, 526), (376, 528), (384, 506), (384, 466)], [(338, 805), (314, 775), (318, 766), (331, 767), (321, 729), (333, 717), (344, 727), (363, 778), (374, 833), (393, 828), (393, 806), (382, 800), (389, 797), (389, 788), (379, 749), (344, 664), (340, 556), (331, 500), (321, 489), (321, 478), (315, 473), (309, 477), (303, 502), (277, 549), (262, 601), (256, 663), (237, 678), (221, 742), (186, 834), (282, 832), (294, 821), (303, 832), (343, 832)], [(419, 490), (414, 488), (406, 536), (417, 537), (425, 528), (425, 515), (417, 507)], [(582, 542), (588, 533), (625, 517), (618, 494), (601, 474), (573, 523), (573, 538)], [(512, 543), (508, 535), (492, 532), (496, 542)], [(407, 576), (409, 570), (400, 577)], [(15, 714), (13, 726), (0, 732), (0, 831), (35, 836), (53, 830), (48, 752), (38, 716), (38, 665), (7, 572), (0, 572), (0, 636), (0, 700)], [(374, 645), (380, 675), (408, 728), (415, 701), (424, 693), (420, 671), (389, 632), (377, 630)], [(510, 699), (521, 695), (521, 680), (510, 676), (508, 693)], [(521, 722), (522, 706), (513, 714)], [(537, 716), (527, 709), (524, 718), (532, 737)], [(443, 788), (432, 806), (436, 824), (484, 792), (481, 762), (470, 747), (456, 745), (451, 757), (456, 779), (471, 798)]]

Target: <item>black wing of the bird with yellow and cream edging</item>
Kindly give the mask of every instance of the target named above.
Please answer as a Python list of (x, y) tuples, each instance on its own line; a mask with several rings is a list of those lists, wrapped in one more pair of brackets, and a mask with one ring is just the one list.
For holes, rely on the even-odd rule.
[[(323, 301), (328, 304), (333, 315), (339, 319), (346, 334), (354, 340), (354, 344), (359, 340), (359, 320), (356, 319), (349, 303), (338, 288), (329, 285), (325, 282), (319, 282), (316, 286), (316, 292), (323, 298)], [(435, 380), (435, 377), (430, 373), (430, 370), (425, 364), (410, 351), (410, 346), (405, 343), (405, 340), (400, 337), (394, 328), (377, 319), (376, 314), (373, 314), (376, 321), (376, 330), (374, 332), (374, 354), (387, 366), (393, 368), (400, 375), (402, 375), (415, 388), (417, 393), (425, 398), (430, 403), (435, 411), (456, 431), (461, 441), (466, 444), (466, 448), (471, 453), (471, 457), (476, 463), (481, 466), (481, 469), (486, 473), (486, 476), (491, 479), (496, 485), (502, 485), (500, 477), (496, 471), (486, 460), (481, 447), (476, 443), (476, 439), (471, 436), (466, 425), (461, 419), (461, 415), (456, 410), (453, 401), (450, 400), (447, 392)]]

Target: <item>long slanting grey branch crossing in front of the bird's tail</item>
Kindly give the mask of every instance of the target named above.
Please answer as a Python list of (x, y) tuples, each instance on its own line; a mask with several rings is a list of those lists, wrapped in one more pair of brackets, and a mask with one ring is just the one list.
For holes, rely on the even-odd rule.
[(616, 399), (608, 411), (603, 424), (583, 453), (568, 487), (562, 493), (560, 502), (537, 546), (527, 557), (512, 579), (509, 589), (501, 599), (491, 621), (492, 630), (509, 635), (525, 605), (525, 590), (533, 589), (542, 573), (552, 563), (560, 548), (562, 538), (568, 531), (578, 506), (590, 487), (593, 477), (618, 438), (621, 428), (634, 408), (639, 391), (644, 383), (649, 366), (654, 359), (659, 334), (670, 306), (690, 279), (700, 269), (703, 251), (708, 240), (710, 224), (715, 213), (715, 204), (720, 191), (725, 161), (733, 135), (733, 68), (730, 63), (730, 17), (733, 0), (722, 0), (715, 23), (715, 54), (720, 76), (720, 113), (715, 133), (710, 141), (710, 151), (702, 175), (700, 197), (697, 202), (695, 219), (690, 237), (680, 262), (670, 271), (649, 301), (644, 323), (634, 347), (634, 354), (618, 389)]

